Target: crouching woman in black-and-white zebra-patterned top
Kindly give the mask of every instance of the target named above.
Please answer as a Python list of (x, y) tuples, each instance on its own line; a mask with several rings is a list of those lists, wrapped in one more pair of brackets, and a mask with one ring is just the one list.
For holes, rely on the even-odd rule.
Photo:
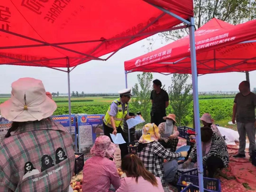
[[(229, 163), (229, 153), (225, 140), (210, 127), (201, 127), (203, 164), (207, 166), (208, 177), (213, 178), (217, 169), (227, 167)], [(188, 160), (183, 163), (185, 169), (191, 161), (197, 161), (196, 144), (189, 154)]]

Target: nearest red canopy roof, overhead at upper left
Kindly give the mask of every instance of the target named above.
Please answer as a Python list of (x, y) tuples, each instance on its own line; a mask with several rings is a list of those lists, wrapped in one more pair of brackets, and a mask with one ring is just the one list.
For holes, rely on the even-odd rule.
[(3, 0), (0, 64), (74, 67), (181, 23), (149, 3), (193, 16), (192, 0)]

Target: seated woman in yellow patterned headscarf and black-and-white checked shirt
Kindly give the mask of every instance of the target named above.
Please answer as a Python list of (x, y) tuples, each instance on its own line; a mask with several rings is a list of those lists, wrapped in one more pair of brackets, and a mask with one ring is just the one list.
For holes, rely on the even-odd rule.
[[(187, 157), (188, 153), (172, 153), (165, 149), (159, 142), (159, 129), (154, 123), (148, 123), (143, 127), (143, 134), (139, 140), (137, 156), (142, 160), (146, 169), (154, 176), (161, 179), (165, 191), (170, 191), (168, 182), (171, 182), (177, 172), (179, 157)], [(167, 159), (163, 163), (163, 159)]]

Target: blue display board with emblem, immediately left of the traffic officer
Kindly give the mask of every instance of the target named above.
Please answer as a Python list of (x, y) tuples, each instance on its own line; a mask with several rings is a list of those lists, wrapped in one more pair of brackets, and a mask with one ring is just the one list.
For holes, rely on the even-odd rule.
[(90, 157), (90, 150), (95, 143), (95, 139), (103, 132), (103, 114), (78, 114), (78, 140), (79, 140), (79, 153), (84, 153), (84, 157)]

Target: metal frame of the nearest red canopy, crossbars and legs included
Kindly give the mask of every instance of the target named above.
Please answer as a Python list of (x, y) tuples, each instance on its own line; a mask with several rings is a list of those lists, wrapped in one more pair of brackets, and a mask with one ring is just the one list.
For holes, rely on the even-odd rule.
[[(150, 3), (149, 3), (150, 4)], [(181, 18), (180, 16), (174, 14), (171, 11), (166, 10), (165, 8), (159, 7), (157, 5), (151, 4), (152, 6), (158, 8), (159, 10), (163, 11), (163, 13), (161, 15), (159, 15), (157, 18), (155, 18), (153, 21), (151, 21), (150, 23), (148, 23), (148, 25), (146, 27), (144, 27), (142, 30), (140, 30), (138, 32), (138, 34), (136, 35), (131, 35), (131, 37), (118, 37), (118, 38), (112, 38), (112, 39), (97, 39), (97, 40), (90, 40), (90, 41), (78, 41), (78, 42), (63, 42), (63, 43), (49, 43), (49, 42), (45, 42), (45, 41), (41, 41), (39, 39), (35, 39), (35, 38), (31, 38), (31, 37), (27, 37), (25, 35), (22, 34), (18, 34), (18, 33), (14, 33), (11, 31), (7, 31), (7, 30), (3, 30), (0, 29), (1, 32), (7, 33), (7, 34), (12, 34), (15, 35), (17, 37), (21, 37), (21, 38), (25, 38), (25, 39), (29, 39), (31, 41), (40, 43), (40, 44), (33, 44), (33, 45), (22, 45), (22, 46), (2, 46), (0, 47), (0, 49), (12, 49), (12, 48), (31, 48), (31, 47), (40, 47), (40, 46), (52, 46), (54, 48), (59, 48), (59, 49), (63, 49), (66, 50), (68, 52), (73, 52), (73, 53), (77, 53), (85, 58), (80, 58), (80, 57), (61, 57), (61, 58), (53, 58), (53, 59), (41, 59), (41, 60), (31, 60), (31, 61), (26, 61), (26, 60), (22, 60), (22, 59), (17, 59), (14, 57), (10, 57), (10, 56), (4, 56), (1, 54), (1, 57), (6, 57), (8, 59), (13, 59), (16, 60), (15, 62), (10, 62), (10, 63), (2, 63), (1, 65), (5, 64), (5, 65), (17, 65), (19, 63), (30, 63), (33, 64), (34, 66), (38, 66), (38, 67), (47, 67), (47, 68), (51, 68), (51, 69), (55, 69), (58, 71), (63, 71), (63, 72), (67, 72), (68, 74), (68, 108), (69, 108), (69, 128), (71, 130), (71, 95), (70, 95), (70, 72), (72, 70), (74, 70), (79, 64), (85, 63), (86, 61), (89, 60), (101, 60), (101, 61), (106, 61), (108, 60), (110, 57), (112, 57), (115, 53), (118, 52), (118, 50), (124, 48), (127, 44), (129, 44), (129, 42), (131, 42), (135, 37), (140, 37), (140, 36), (145, 36), (145, 35), (153, 35), (156, 33), (160, 33), (163, 31), (170, 31), (170, 30), (176, 30), (176, 29), (182, 29), (182, 28), (186, 28), (187, 26), (189, 27), (189, 37), (190, 37), (190, 47), (191, 47), (191, 68), (192, 68), (192, 82), (193, 82), (193, 90), (195, 91), (195, 94), (193, 94), (193, 99), (194, 99), (194, 111), (195, 111), (195, 125), (196, 125), (196, 131), (197, 131), (197, 135), (196, 135), (196, 139), (199, 141), (198, 147), (197, 147), (197, 159), (202, 159), (202, 149), (201, 149), (201, 133), (200, 133), (200, 121), (199, 121), (199, 102), (198, 102), (198, 90), (197, 90), (197, 68), (196, 68), (196, 49), (195, 49), (195, 23), (194, 23), (194, 18), (191, 17), (190, 21), (185, 20), (183, 18)], [(159, 31), (154, 31), (153, 33), (143, 33), (141, 34), (144, 30), (146, 30), (148, 27), (150, 27), (151, 25), (153, 25), (153, 23), (155, 23), (159, 18), (161, 18), (163, 15), (165, 14), (169, 14), (171, 16), (173, 16), (174, 18), (180, 20), (181, 22), (185, 23), (186, 25), (184, 26), (179, 26), (179, 27), (173, 27), (171, 29), (166, 29), (166, 30), (159, 30)], [(121, 45), (116, 51), (114, 51), (112, 54), (110, 54), (110, 56), (108, 56), (106, 59), (101, 59), (99, 57), (95, 57), (92, 56), (91, 54), (93, 54), (95, 52), (95, 50), (97, 50), (100, 46), (103, 45), (104, 42), (106, 41), (113, 41), (113, 40), (118, 40), (118, 39), (126, 39), (129, 38), (128, 41), (126, 41), (123, 45)], [(89, 43), (89, 42), (101, 42), (101, 44), (99, 44), (90, 54), (85, 54), (82, 52), (78, 52), (76, 50), (72, 50), (72, 49), (68, 49), (68, 48), (64, 48), (60, 45), (68, 45), (68, 44), (81, 44), (81, 43)], [(63, 70), (63, 69), (59, 69), (59, 68), (55, 68), (55, 67), (49, 67), (47, 65), (44, 65), (42, 63), (37, 63), (37, 62), (42, 62), (42, 61), (53, 61), (53, 60), (60, 60), (60, 59), (66, 59), (67, 61), (67, 71)], [(70, 69), (70, 63), (69, 63), (69, 59), (79, 59), (80, 62), (75, 65), (74, 67), (72, 67), (72, 69)], [(126, 87), (127, 87), (127, 72), (125, 72), (125, 79), (126, 79)], [(71, 133), (71, 131), (70, 131)], [(76, 138), (76, 130), (75, 130), (75, 146), (76, 146), (76, 151), (77, 151), (77, 138)], [(203, 191), (203, 164), (202, 161), (200, 161), (198, 163), (198, 175), (199, 175), (199, 189), (200, 191)]]

